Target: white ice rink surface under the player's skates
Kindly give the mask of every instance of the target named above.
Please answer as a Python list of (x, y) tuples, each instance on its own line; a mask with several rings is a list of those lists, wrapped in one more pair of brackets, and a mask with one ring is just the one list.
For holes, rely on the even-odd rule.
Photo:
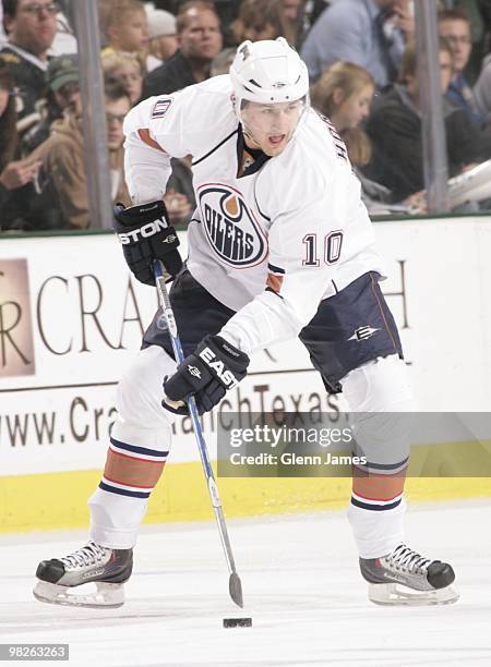
[[(408, 513), (408, 543), (456, 570), (460, 601), (441, 607), (369, 603), (344, 512), (228, 525), (243, 610), (228, 597), (212, 522), (145, 529), (127, 604), (113, 610), (32, 596), (38, 560), (79, 548), (85, 534), (3, 536), (0, 643), (69, 643), (70, 663), (60, 665), (94, 667), (491, 665), (491, 500), (414, 506)], [(230, 616), (252, 616), (253, 627), (224, 629)]]

